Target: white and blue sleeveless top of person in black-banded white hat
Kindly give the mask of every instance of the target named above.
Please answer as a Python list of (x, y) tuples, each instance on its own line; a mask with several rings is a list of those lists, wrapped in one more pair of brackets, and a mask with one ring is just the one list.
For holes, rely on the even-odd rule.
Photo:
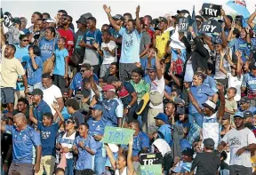
[(203, 139), (212, 138), (215, 142), (215, 149), (218, 147), (220, 142), (220, 123), (218, 122), (217, 119), (217, 113), (218, 112), (216, 112), (210, 117), (204, 116), (203, 121)]

